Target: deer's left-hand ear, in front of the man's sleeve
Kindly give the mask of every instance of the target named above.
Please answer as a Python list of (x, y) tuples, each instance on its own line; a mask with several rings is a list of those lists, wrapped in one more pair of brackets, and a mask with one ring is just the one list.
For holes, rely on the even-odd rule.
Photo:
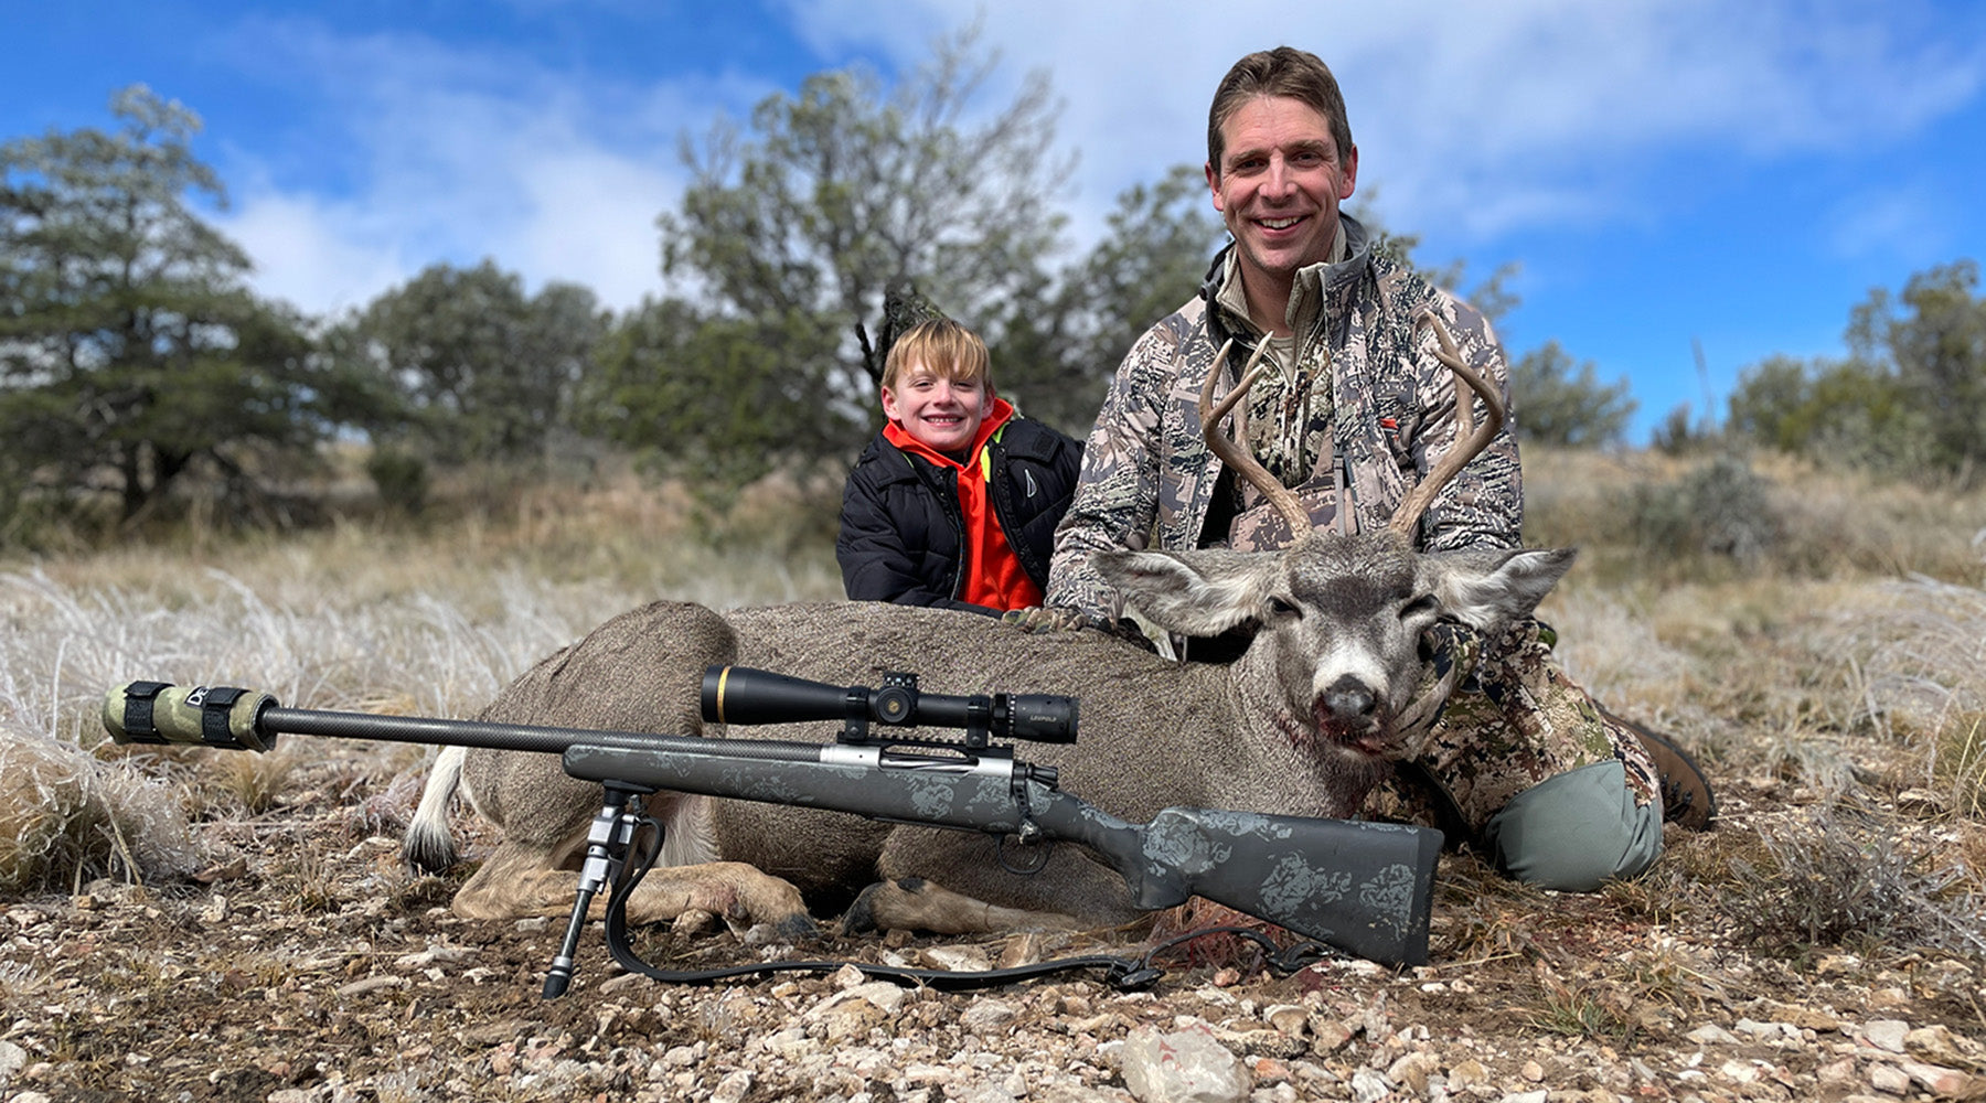
[(1209, 637), (1259, 617), (1281, 555), (1257, 552), (1098, 552), (1096, 569), (1168, 633)]

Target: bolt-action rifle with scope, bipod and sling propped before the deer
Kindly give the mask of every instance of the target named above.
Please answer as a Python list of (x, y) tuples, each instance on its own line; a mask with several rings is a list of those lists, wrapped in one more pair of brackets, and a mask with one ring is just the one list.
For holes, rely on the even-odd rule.
[[(109, 690), (103, 726), (119, 744), (199, 744), (266, 752), (282, 734), (560, 754), (566, 774), (600, 782), (604, 801), (588, 833), (580, 891), (564, 944), (544, 982), (560, 996), (596, 893), (610, 891), (608, 946), (632, 972), (669, 980), (626, 942), (622, 909), (661, 849), (661, 825), (643, 797), (661, 790), (850, 811), (870, 819), (981, 831), (1017, 849), (1053, 841), (1094, 851), (1130, 887), (1140, 909), (1188, 897), (1263, 919), (1301, 936), (1384, 964), (1428, 960), (1428, 917), (1442, 833), (1428, 827), (1168, 807), (1126, 823), (1057, 788), (1051, 766), (1033, 766), (993, 740), (1074, 742), (1076, 698), (1047, 694), (949, 696), (918, 692), (916, 674), (886, 674), (880, 688), (830, 686), (743, 667), (711, 667), (703, 716), (723, 724), (840, 720), (836, 742), (717, 740), (483, 720), (375, 716), (284, 708), (232, 686), (129, 682)], [(890, 728), (874, 734), (870, 724)], [(900, 728), (963, 730), (923, 738)], [(651, 825), (641, 859), (630, 849)], [(1047, 857), (1045, 853), (1041, 857)], [(1035, 863), (1039, 865), (1039, 863)], [(1009, 865), (1023, 873), (1021, 863)], [(1122, 958), (1078, 964), (1126, 964)], [(775, 972), (786, 962), (729, 970)], [(820, 962), (790, 962), (812, 968)], [(943, 970), (858, 964), (870, 974), (963, 986)], [(1134, 970), (1150, 984), (1156, 970)], [(1013, 974), (1013, 976), (1009, 976)], [(1023, 976), (995, 970), (995, 980)], [(1134, 984), (1118, 976), (1118, 984)]]

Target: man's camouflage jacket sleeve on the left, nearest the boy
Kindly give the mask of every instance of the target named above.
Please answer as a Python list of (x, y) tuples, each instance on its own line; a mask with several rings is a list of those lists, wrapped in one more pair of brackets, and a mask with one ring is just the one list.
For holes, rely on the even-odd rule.
[(1055, 530), (1043, 603), (1078, 609), (1092, 623), (1120, 617), (1122, 601), (1090, 555), (1110, 548), (1142, 552), (1158, 518), (1162, 419), (1180, 347), (1174, 321), (1148, 329), (1118, 365), (1082, 448), (1074, 502)]

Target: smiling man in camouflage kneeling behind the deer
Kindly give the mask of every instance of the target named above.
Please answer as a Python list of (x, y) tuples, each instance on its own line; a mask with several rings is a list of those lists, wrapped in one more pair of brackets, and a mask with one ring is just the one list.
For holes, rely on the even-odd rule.
[[(1207, 188), (1233, 242), (1202, 296), (1120, 365), (1057, 532), (1045, 607), (1011, 615), (1029, 627), (1116, 625), (1118, 597), (1090, 565), (1106, 548), (1289, 544), (1273, 506), (1207, 450), (1196, 413), (1207, 373), (1231, 389), (1259, 345), (1271, 367), (1247, 395), (1241, 442), (1319, 528), (1384, 526), (1460, 438), (1454, 375), (1416, 313), (1432, 309), (1507, 405), (1509, 369), (1488, 319), (1374, 252), (1364, 226), (1339, 210), (1358, 181), (1358, 147), (1321, 60), (1291, 48), (1249, 54), (1207, 115)], [(1229, 337), (1239, 351), (1215, 363)], [(1517, 548), (1521, 520), (1505, 425), (1434, 498), (1416, 546)], [(1517, 879), (1591, 891), (1660, 853), (1664, 772), (1557, 671), (1549, 645), (1535, 621), (1491, 641), (1382, 811), (1460, 827)], [(1694, 768), (1688, 776), (1708, 811), (1708, 788)]]

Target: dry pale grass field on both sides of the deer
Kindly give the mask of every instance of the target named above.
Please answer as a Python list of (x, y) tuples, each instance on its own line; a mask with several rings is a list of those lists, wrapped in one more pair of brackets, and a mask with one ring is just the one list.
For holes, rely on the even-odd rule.
[[(1543, 615), (1569, 671), (1672, 732), (1726, 799), (1724, 829), (1670, 855), (1609, 907), (1666, 928), (1720, 928), (1770, 952), (1982, 948), (1986, 859), (1986, 496), (1873, 484), (1781, 460), (1746, 470), (1772, 512), (1756, 561), (1636, 544), (1634, 502), (1694, 466), (1652, 454), (1527, 456), (1531, 540), (1579, 544)], [(489, 492), (489, 488), (483, 488)], [(0, 778), (18, 825), (4, 887), (185, 873), (187, 817), (280, 813), (310, 742), (254, 760), (103, 746), (97, 708), (129, 678), (246, 684), (286, 704), (463, 716), (540, 655), (655, 597), (832, 599), (832, 492), (769, 486), (725, 522), (632, 474), (504, 490), (483, 514), (304, 536), (195, 532), (171, 550), (0, 561)], [(34, 760), (34, 768), (14, 764)], [(355, 837), (397, 829), (419, 750), (342, 762)], [(318, 770), (322, 776), (322, 770)], [(135, 809), (117, 819), (107, 809)], [(4, 829), (6, 825), (0, 825)], [(42, 831), (40, 835), (36, 831)], [(177, 833), (175, 833), (177, 831)], [(30, 855), (32, 861), (20, 861)], [(0, 855), (4, 857), (4, 855)], [(1446, 867), (1444, 867), (1446, 869)], [(282, 871), (300, 907), (314, 871)], [(1446, 875), (1444, 875), (1446, 877)], [(1456, 867), (1448, 954), (1545, 954), (1535, 895)], [(1736, 907), (1736, 911), (1732, 911)], [(1970, 909), (1970, 911), (1968, 911)], [(1638, 1004), (1716, 998), (1686, 944), (1615, 962)], [(1629, 1038), (1601, 990), (1543, 982), (1535, 1026)]]

